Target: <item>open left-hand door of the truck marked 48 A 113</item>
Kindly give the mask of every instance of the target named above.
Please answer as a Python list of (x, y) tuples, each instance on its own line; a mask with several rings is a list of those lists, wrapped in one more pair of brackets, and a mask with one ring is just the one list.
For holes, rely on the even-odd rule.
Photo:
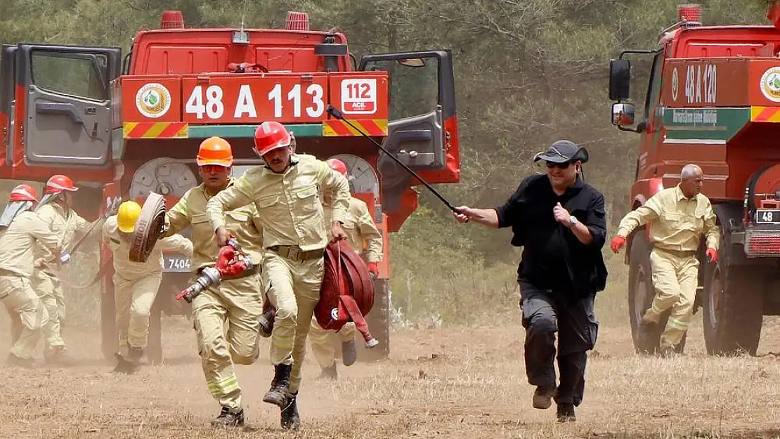
[(110, 83), (119, 76), (121, 55), (121, 48), (16, 46), (15, 139), (7, 150), (12, 178), (61, 172), (80, 181), (111, 180)]

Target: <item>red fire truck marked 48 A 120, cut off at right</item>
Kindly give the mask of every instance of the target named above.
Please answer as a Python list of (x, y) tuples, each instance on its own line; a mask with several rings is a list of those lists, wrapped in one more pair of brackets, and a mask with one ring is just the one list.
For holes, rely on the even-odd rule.
[[(656, 48), (612, 60), (612, 124), (639, 133), (631, 209), (675, 186), (683, 166), (704, 171), (703, 193), (721, 229), (717, 263), (707, 262), (704, 242), (698, 256), (707, 352), (755, 354), (762, 317), (780, 315), (780, 4), (770, 5), (771, 25), (705, 26), (702, 12), (680, 6), (679, 21), (661, 30)], [(636, 121), (628, 54), (652, 58)], [(650, 345), (640, 341), (637, 327), (654, 296), (648, 230), (627, 237), (626, 248), (629, 318), (641, 351), (658, 348), (666, 321)]]

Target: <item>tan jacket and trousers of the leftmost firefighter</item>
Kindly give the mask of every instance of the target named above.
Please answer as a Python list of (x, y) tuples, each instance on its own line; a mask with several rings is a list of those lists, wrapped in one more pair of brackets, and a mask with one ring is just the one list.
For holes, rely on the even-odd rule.
[(62, 239), (31, 211), (18, 214), (0, 237), (0, 299), (9, 313), (20, 317), (20, 336), (11, 347), (12, 355), (20, 359), (34, 357), (41, 328), (49, 320), (46, 307), (30, 285), (36, 244), (48, 252), (46, 257), (52, 257)]

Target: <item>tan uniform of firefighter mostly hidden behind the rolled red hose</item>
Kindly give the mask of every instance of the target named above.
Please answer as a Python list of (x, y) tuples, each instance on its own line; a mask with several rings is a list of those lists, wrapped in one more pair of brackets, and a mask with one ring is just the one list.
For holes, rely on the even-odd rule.
[[(322, 204), (325, 212), (325, 218), (330, 220), (331, 207), (328, 204)], [(327, 223), (330, 224), (329, 222)], [(346, 233), (347, 243), (357, 253), (363, 254), (368, 262), (379, 262), (382, 259), (382, 235), (374, 224), (374, 218), (368, 212), (368, 206), (363, 200), (349, 198), (349, 207), (347, 207), (346, 217), (342, 225)], [(363, 249), (365, 245), (365, 250)], [(364, 250), (364, 251), (363, 251)], [(355, 339), (355, 324), (349, 322), (342, 326), (337, 332), (342, 343), (350, 342)], [(309, 329), (309, 340), (311, 341), (311, 350), (314, 352), (314, 358), (320, 367), (326, 369), (335, 364), (335, 350), (331, 340), (332, 331), (322, 329), (317, 324), (317, 319), (311, 319)]]

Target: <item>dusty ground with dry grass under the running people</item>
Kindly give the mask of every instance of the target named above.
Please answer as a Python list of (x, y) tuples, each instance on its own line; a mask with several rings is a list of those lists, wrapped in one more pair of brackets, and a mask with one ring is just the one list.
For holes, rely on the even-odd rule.
[[(0, 319), (5, 319), (0, 313)], [(109, 373), (96, 331), (66, 334), (83, 365), (29, 371), (0, 367), (0, 437), (293, 437), (278, 409), (262, 402), (271, 380), (268, 344), (239, 367), (248, 426), (214, 434), (207, 394), (186, 320), (165, 320), (168, 364), (134, 376)], [(0, 327), (5, 327), (5, 322)], [(533, 409), (523, 368), (523, 330), (415, 330), (394, 334), (392, 358), (341, 367), (336, 383), (304, 369), (300, 437), (778, 437), (780, 361), (774, 356), (704, 356), (700, 324), (683, 358), (636, 356), (627, 327), (602, 326), (587, 370), (585, 401), (573, 424), (555, 409)], [(7, 332), (2, 331), (2, 334)], [(264, 339), (265, 340), (265, 339)], [(0, 348), (7, 352), (7, 338)], [(768, 324), (761, 352), (780, 351)], [(3, 354), (5, 355), (5, 354)], [(313, 360), (313, 359), (311, 359)]]

